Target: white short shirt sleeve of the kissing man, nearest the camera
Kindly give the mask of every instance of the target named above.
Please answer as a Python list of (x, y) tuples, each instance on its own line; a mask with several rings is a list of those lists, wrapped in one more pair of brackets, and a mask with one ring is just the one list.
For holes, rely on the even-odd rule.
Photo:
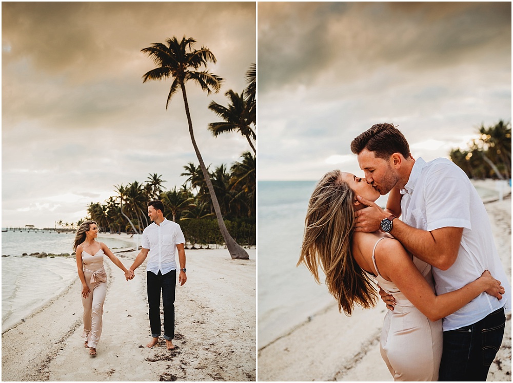
[(451, 163), (438, 163), (429, 169), (424, 199), (427, 230), (470, 225), (470, 190), (465, 173)]

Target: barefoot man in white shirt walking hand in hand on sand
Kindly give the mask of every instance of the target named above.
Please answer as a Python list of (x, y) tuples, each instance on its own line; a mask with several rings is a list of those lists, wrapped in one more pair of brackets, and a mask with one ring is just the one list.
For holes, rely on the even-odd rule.
[(185, 269), (185, 237), (180, 225), (164, 218), (164, 204), (159, 201), (148, 202), (148, 217), (153, 222), (143, 231), (142, 248), (130, 271), (141, 266), (146, 257), (146, 278), (148, 305), (151, 327), (151, 341), (146, 347), (159, 343), (161, 335), (160, 296), (164, 306), (164, 338), (168, 350), (174, 349), (174, 297), (176, 288), (176, 250), (180, 261), (180, 286), (187, 282)]

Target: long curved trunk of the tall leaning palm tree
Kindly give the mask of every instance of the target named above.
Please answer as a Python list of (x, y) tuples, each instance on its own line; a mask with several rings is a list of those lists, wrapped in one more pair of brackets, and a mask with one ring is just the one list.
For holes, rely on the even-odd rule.
[(189, 124), (189, 134), (191, 136), (192, 146), (194, 147), (194, 152), (196, 152), (196, 157), (198, 157), (198, 161), (200, 162), (201, 171), (203, 172), (203, 176), (205, 177), (205, 183), (208, 187), (208, 192), (210, 193), (210, 198), (212, 200), (212, 205), (214, 206), (215, 216), (218, 219), (219, 229), (221, 230), (221, 235), (226, 243), (226, 247), (230, 252), (231, 259), (249, 259), (249, 255), (246, 250), (242, 248), (241, 245), (235, 242), (235, 240), (230, 236), (228, 229), (223, 220), (223, 216), (221, 215), (221, 207), (219, 206), (218, 198), (215, 196), (214, 187), (212, 185), (212, 181), (210, 181), (210, 176), (207, 172), (207, 167), (203, 162), (203, 158), (201, 156), (198, 145), (196, 145), (196, 140), (194, 139), (194, 131), (192, 130), (192, 120), (189, 112), (189, 103), (187, 102), (187, 94), (185, 93), (185, 84), (183, 81), (181, 82), (182, 95), (184, 97), (185, 104), (185, 113), (187, 115), (187, 122)]

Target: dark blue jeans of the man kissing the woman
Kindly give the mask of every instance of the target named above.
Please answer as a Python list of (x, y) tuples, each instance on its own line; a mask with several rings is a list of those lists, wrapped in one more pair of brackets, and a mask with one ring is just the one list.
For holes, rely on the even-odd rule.
[(502, 344), (506, 318), (504, 309), (481, 321), (444, 331), (440, 381), (485, 381), (490, 365)]

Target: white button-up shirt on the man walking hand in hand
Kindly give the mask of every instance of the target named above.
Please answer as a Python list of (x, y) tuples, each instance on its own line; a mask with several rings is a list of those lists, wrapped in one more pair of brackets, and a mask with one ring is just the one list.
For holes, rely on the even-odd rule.
[(149, 249), (146, 271), (155, 275), (176, 270), (176, 245), (185, 243), (180, 225), (173, 221), (164, 221), (160, 225), (152, 222), (143, 231), (142, 247)]

